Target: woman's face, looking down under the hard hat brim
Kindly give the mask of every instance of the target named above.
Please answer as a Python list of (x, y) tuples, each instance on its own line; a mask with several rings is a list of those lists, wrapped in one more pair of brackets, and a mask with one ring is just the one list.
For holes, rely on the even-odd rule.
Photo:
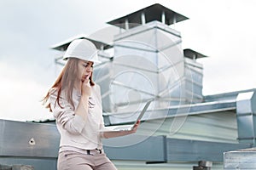
[(93, 71), (93, 62), (85, 61), (80, 59), (79, 60), (79, 79), (84, 82), (86, 77), (91, 77), (91, 73)]

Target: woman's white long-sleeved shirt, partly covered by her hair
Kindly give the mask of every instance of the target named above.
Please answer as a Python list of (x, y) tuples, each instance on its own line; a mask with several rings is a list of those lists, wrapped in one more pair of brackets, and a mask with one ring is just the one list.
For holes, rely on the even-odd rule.
[(49, 103), (55, 116), (56, 126), (61, 133), (60, 151), (70, 150), (71, 147), (82, 150), (102, 149), (102, 134), (99, 129), (104, 127), (102, 117), (102, 99), (100, 87), (95, 85), (91, 87), (90, 103), (88, 116), (86, 122), (74, 111), (79, 105), (81, 94), (78, 90), (73, 89), (73, 104), (67, 102), (60, 96), (60, 105), (55, 103), (57, 99), (57, 92), (50, 94)]

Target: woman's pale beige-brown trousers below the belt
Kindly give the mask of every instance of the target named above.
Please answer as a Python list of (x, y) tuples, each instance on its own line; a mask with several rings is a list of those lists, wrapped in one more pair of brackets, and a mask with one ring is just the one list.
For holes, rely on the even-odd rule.
[(58, 157), (58, 170), (117, 170), (105, 153), (90, 150), (90, 155), (75, 151), (62, 151)]

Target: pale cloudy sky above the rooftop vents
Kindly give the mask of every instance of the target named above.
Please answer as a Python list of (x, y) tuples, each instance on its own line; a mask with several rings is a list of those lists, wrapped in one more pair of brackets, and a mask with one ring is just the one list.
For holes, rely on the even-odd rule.
[(208, 56), (198, 59), (204, 95), (256, 88), (256, 1), (0, 0), (0, 119), (51, 119), (40, 103), (60, 71), (50, 47), (154, 3), (189, 18), (175, 29), (182, 48)]

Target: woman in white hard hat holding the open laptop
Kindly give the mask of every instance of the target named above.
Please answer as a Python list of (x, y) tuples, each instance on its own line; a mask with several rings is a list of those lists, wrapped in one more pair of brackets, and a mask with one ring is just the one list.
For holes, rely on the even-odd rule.
[(95, 45), (78, 39), (70, 43), (63, 59), (67, 64), (43, 102), (55, 116), (61, 133), (59, 170), (116, 169), (102, 150), (102, 138), (136, 133), (139, 122), (128, 132), (104, 132), (100, 88), (92, 80), (97, 59)]

